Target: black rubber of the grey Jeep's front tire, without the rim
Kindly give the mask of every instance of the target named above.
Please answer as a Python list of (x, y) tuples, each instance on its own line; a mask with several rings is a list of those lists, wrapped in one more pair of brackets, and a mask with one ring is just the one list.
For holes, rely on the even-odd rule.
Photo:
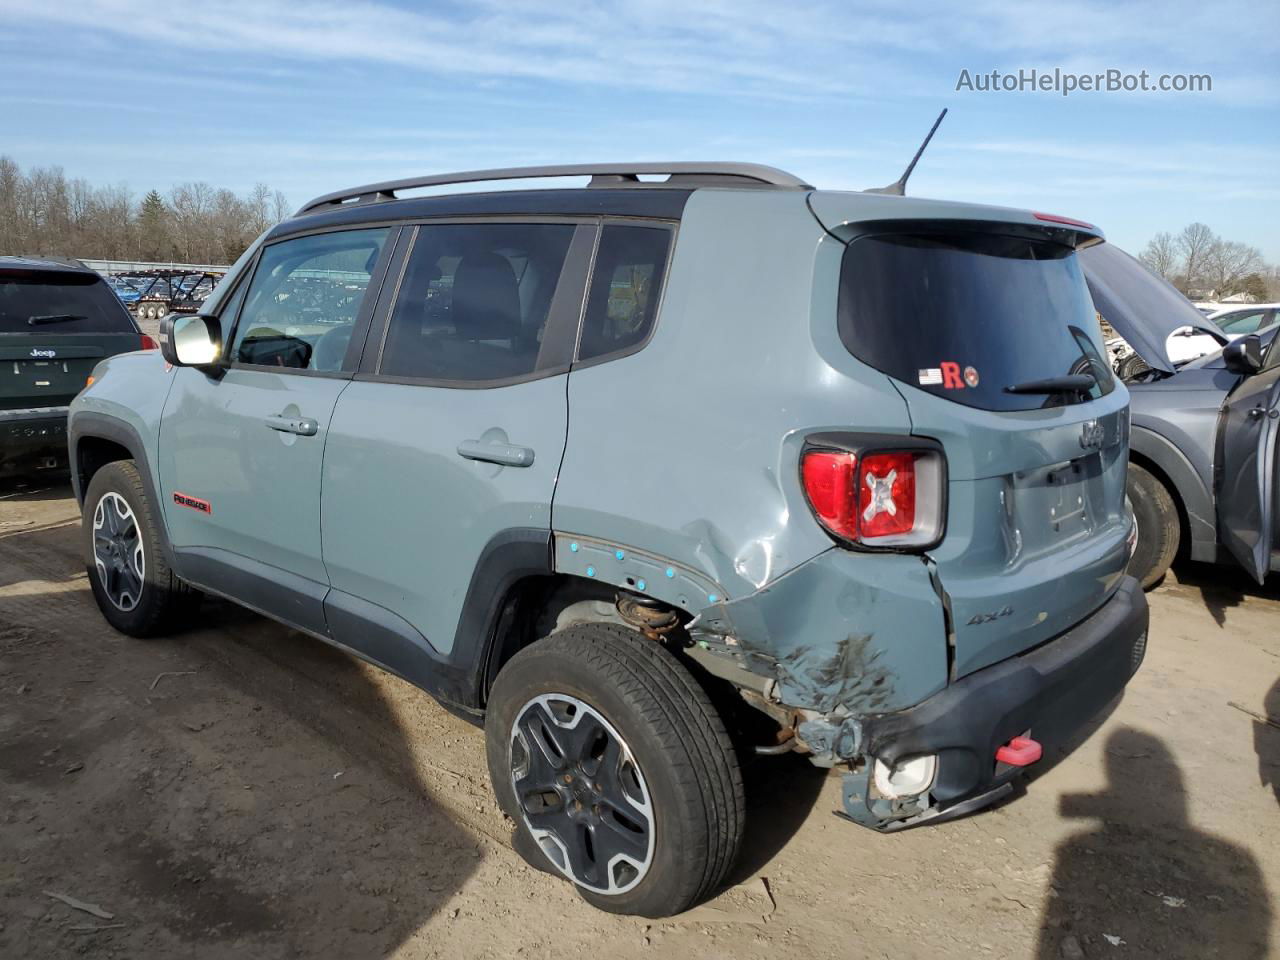
[[(124, 500), (132, 512), (137, 541), (142, 548), (141, 589), (137, 596), (129, 596), (131, 604), (123, 608), (113, 599), (106, 580), (109, 575), (95, 559), (95, 518), (100, 506), (115, 503), (113, 497)], [(160, 521), (156, 506), (147, 499), (142, 476), (132, 460), (118, 460), (101, 467), (90, 480), (84, 493), (84, 509), (81, 518), (81, 531), (84, 538), (84, 566), (93, 599), (102, 611), (106, 622), (129, 636), (161, 636), (186, 626), (201, 594), (183, 584), (169, 568), (161, 545)]]

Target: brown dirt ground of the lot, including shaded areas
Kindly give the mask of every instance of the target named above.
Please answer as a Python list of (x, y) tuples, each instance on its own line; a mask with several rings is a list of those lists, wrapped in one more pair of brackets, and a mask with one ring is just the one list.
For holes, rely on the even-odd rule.
[(113, 632), (46, 484), (0, 486), (0, 956), (1280, 955), (1275, 579), (1170, 576), (1124, 700), (979, 815), (878, 836), (758, 762), (733, 886), (646, 922), (527, 868), (481, 731), (403, 682), (223, 603)]

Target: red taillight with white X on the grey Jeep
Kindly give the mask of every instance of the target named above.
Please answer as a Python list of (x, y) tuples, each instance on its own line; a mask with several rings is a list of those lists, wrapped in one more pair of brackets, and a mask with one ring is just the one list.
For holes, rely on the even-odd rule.
[(849, 544), (925, 548), (942, 538), (945, 463), (936, 449), (809, 448), (800, 462), (818, 522)]

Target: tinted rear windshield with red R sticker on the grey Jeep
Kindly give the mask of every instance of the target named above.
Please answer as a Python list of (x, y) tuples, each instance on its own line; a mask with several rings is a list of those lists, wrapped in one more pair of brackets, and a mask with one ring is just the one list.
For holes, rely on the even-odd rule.
[[(1075, 251), (986, 234), (869, 236), (845, 251), (840, 337), (896, 380), (982, 410), (1078, 403), (1115, 389)], [(1007, 387), (1092, 374), (1088, 394)]]

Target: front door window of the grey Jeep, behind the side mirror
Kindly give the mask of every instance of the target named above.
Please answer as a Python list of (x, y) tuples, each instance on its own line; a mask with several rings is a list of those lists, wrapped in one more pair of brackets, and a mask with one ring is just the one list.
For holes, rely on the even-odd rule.
[(265, 247), (232, 357), (256, 366), (349, 370), (347, 347), (387, 234), (385, 228), (319, 233)]

